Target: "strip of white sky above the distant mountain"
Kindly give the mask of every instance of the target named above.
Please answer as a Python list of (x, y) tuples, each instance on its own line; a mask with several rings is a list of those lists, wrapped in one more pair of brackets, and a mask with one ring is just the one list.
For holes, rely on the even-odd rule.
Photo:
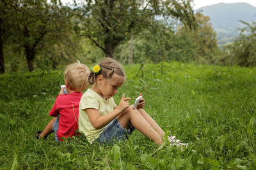
[(194, 0), (194, 10), (201, 8), (202, 6), (218, 3), (248, 3), (256, 7), (256, 0)]

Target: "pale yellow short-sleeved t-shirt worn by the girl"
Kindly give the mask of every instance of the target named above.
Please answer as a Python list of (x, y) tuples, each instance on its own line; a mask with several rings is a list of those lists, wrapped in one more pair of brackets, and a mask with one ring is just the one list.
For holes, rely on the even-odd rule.
[(83, 134), (86, 136), (89, 143), (93, 143), (93, 141), (99, 137), (100, 133), (105, 129), (105, 127), (102, 127), (102, 129), (95, 129), (88, 118), (86, 109), (96, 109), (99, 111), (99, 115), (102, 116), (113, 111), (115, 106), (116, 104), (113, 97), (104, 99), (92, 89), (88, 89), (83, 94), (79, 104), (78, 128), (79, 131), (83, 132)]

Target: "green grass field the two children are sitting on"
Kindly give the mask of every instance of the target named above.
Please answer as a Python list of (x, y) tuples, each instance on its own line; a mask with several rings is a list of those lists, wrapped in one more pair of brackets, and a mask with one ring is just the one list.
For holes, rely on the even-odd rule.
[(1, 169), (255, 169), (256, 69), (165, 63), (125, 66), (127, 81), (114, 96), (132, 102), (143, 93), (145, 110), (168, 134), (189, 143), (159, 148), (136, 131), (113, 146), (76, 137), (59, 145), (35, 132), (51, 120), (64, 83), (62, 71), (0, 76)]

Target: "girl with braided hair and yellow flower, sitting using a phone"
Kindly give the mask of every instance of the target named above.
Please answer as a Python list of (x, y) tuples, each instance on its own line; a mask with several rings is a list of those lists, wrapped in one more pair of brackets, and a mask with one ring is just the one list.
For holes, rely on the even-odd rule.
[[(124, 81), (124, 69), (116, 60), (106, 58), (93, 67), (89, 75), (92, 89), (83, 94), (79, 104), (79, 131), (84, 133), (89, 143), (113, 143), (126, 139), (127, 134), (137, 129), (154, 143), (161, 145), (164, 131), (143, 110), (143, 98), (136, 109), (129, 106), (131, 98), (124, 95), (116, 106), (113, 96)], [(168, 139), (171, 145), (186, 146), (175, 139), (175, 136), (169, 136)]]

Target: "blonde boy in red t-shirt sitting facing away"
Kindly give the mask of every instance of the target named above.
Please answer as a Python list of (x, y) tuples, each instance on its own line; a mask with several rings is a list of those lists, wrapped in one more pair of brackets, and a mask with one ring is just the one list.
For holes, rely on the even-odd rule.
[(88, 75), (90, 70), (80, 63), (69, 64), (65, 71), (65, 85), (68, 94), (64, 94), (62, 88), (52, 106), (49, 115), (52, 120), (46, 125), (44, 131), (36, 132), (36, 138), (47, 138), (55, 132), (56, 141), (63, 141), (63, 137), (71, 137), (77, 134), (79, 102), (82, 92), (88, 87)]

